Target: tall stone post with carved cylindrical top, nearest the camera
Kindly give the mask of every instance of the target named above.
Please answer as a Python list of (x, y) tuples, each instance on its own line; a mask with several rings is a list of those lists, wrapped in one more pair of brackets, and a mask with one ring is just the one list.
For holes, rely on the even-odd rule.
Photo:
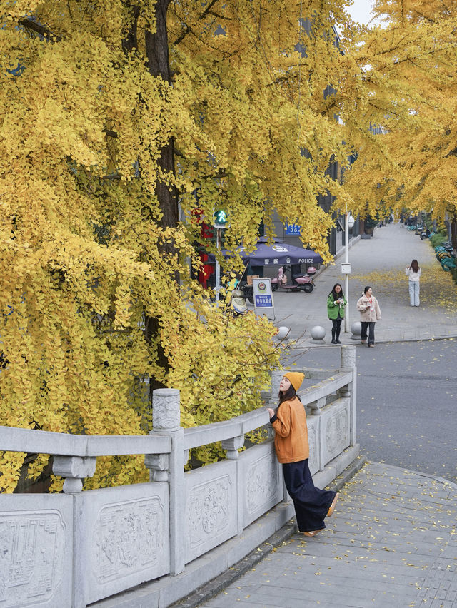
[(159, 388), (152, 395), (154, 434), (171, 438), (169, 455), (146, 455), (146, 466), (154, 481), (168, 482), (170, 509), (170, 574), (184, 570), (186, 518), (184, 513), (184, 429), (181, 428), (179, 390)]

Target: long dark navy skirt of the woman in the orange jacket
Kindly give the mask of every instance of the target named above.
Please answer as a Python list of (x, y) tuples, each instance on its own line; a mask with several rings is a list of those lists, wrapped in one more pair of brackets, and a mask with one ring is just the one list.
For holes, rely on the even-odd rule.
[(322, 530), (326, 525), (328, 509), (336, 496), (331, 490), (319, 490), (313, 483), (308, 467), (308, 458), (299, 462), (283, 463), (286, 488), (293, 500), (298, 530), (312, 532)]

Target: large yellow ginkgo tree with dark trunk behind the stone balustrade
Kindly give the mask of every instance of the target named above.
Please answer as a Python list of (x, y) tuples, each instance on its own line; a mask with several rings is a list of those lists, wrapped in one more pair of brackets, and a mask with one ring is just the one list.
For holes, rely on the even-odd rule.
[[(186, 426), (260, 405), (275, 328), (214, 305), (192, 243), (218, 206), (233, 250), (276, 211), (330, 259), (316, 197), (347, 196), (326, 171), (346, 126), (323, 96), (348, 71), (331, 30), (345, 2), (0, 6), (0, 424), (148, 432), (149, 380), (179, 388)], [(2, 490), (23, 462), (1, 455)], [(86, 487), (145, 475), (99, 459)]]

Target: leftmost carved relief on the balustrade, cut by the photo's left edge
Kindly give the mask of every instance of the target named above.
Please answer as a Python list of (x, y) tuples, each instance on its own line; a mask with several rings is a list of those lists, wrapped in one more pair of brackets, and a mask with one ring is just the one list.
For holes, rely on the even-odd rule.
[(70, 533), (56, 510), (0, 513), (1, 608), (51, 601), (61, 583)]

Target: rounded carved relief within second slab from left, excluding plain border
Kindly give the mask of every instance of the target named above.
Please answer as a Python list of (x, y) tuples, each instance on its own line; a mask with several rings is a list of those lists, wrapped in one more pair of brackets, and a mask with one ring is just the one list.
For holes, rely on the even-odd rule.
[(164, 505), (159, 497), (106, 505), (94, 526), (99, 584), (153, 568), (159, 561), (164, 534)]

